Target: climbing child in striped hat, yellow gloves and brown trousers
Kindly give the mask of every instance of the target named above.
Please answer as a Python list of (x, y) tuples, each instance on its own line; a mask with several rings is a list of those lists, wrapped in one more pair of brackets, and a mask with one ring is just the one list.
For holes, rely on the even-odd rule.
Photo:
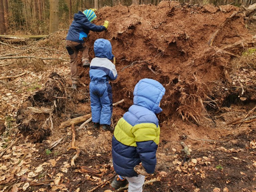
[(76, 13), (66, 37), (66, 49), (70, 57), (70, 70), (73, 89), (76, 89), (77, 84), (79, 84), (79, 72), (77, 69), (78, 51), (82, 52), (83, 67), (90, 66), (88, 55), (89, 49), (84, 42), (89, 31), (101, 32), (108, 28), (108, 21), (105, 21), (104, 25), (95, 25), (91, 23), (97, 17), (94, 10), (95, 9), (86, 9), (83, 12), (79, 11)]

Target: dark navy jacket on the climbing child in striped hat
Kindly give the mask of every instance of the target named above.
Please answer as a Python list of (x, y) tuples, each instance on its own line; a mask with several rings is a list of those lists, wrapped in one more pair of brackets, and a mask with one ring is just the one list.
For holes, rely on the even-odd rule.
[(106, 27), (102, 25), (95, 25), (91, 23), (83, 12), (78, 11), (78, 13), (75, 13), (74, 20), (69, 27), (66, 40), (84, 43), (83, 38), (88, 36), (89, 31), (101, 32), (105, 29)]

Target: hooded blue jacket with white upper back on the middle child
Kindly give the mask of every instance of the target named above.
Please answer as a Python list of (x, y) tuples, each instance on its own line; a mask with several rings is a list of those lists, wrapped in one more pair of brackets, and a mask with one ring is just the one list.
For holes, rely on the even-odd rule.
[(90, 78), (92, 82), (108, 82), (117, 78), (115, 65), (110, 61), (113, 59), (111, 43), (106, 39), (97, 39), (94, 42), (95, 58), (90, 64)]

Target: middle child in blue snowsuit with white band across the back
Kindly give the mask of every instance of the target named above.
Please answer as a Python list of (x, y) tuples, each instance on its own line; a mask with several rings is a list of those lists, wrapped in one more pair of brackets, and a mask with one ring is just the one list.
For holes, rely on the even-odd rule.
[(113, 105), (109, 81), (117, 78), (117, 71), (110, 61), (114, 59), (111, 43), (106, 39), (97, 39), (94, 42), (94, 54), (89, 71), (92, 122), (95, 128), (102, 124), (104, 131), (113, 130), (110, 126)]

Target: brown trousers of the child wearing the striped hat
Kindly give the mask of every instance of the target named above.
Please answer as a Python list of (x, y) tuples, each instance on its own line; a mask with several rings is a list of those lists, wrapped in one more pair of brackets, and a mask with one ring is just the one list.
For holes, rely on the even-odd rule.
[(78, 51), (82, 51), (82, 62), (89, 61), (88, 47), (86, 43), (77, 43), (74, 41), (66, 40), (66, 49), (70, 57), (70, 71), (72, 84), (79, 84), (79, 72), (77, 68), (77, 55)]

